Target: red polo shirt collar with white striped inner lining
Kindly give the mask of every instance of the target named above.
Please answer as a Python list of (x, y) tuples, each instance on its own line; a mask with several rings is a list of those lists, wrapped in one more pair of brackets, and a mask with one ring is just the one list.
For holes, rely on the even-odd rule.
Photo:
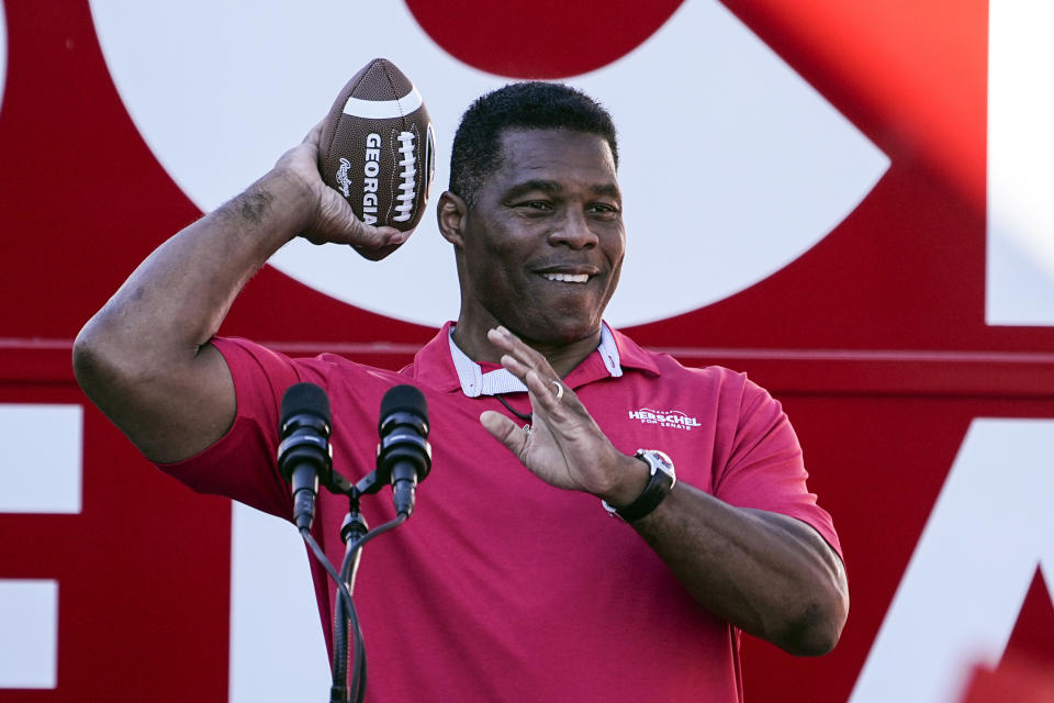
[[(523, 382), (505, 369), (484, 371), (469, 358), (451, 337), (452, 322), (447, 322), (439, 334), (426, 344), (414, 357), (415, 378), (426, 381), (437, 390), (460, 390), (469, 398), (498, 393), (526, 392)], [(582, 360), (564, 382), (578, 388), (604, 378), (618, 378), (624, 369), (639, 369), (659, 376), (659, 367), (650, 355), (632, 339), (613, 330), (607, 323), (601, 327), (601, 344)]]

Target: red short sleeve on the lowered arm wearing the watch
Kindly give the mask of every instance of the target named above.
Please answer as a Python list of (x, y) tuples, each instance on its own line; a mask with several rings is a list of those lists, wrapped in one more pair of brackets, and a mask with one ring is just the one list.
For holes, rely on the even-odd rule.
[(841, 556), (831, 516), (806, 486), (808, 472), (801, 446), (780, 402), (744, 380), (738, 409), (735, 438), (725, 466), (718, 470), (715, 495), (738, 507), (800, 520)]

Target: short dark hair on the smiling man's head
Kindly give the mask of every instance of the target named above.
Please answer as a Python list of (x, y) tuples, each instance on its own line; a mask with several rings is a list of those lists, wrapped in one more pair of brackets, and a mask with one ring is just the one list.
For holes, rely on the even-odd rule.
[(581, 90), (545, 81), (509, 83), (469, 105), (453, 135), (450, 190), (470, 207), (483, 181), (501, 164), (502, 132), (570, 130), (604, 137), (618, 168), (618, 141), (612, 115)]

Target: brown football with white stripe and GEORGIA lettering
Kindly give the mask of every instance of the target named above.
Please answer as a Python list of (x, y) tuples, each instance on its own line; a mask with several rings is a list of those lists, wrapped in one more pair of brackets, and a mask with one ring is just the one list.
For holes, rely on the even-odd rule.
[(407, 232), (424, 214), (435, 154), (421, 93), (394, 64), (374, 58), (329, 109), (318, 170), (362, 222)]

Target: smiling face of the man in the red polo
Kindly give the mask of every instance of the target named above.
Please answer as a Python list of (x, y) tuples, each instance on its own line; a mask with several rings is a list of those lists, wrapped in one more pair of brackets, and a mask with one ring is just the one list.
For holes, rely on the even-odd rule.
[(463, 227), (461, 321), (567, 344), (599, 330), (626, 249), (607, 142), (507, 130)]

